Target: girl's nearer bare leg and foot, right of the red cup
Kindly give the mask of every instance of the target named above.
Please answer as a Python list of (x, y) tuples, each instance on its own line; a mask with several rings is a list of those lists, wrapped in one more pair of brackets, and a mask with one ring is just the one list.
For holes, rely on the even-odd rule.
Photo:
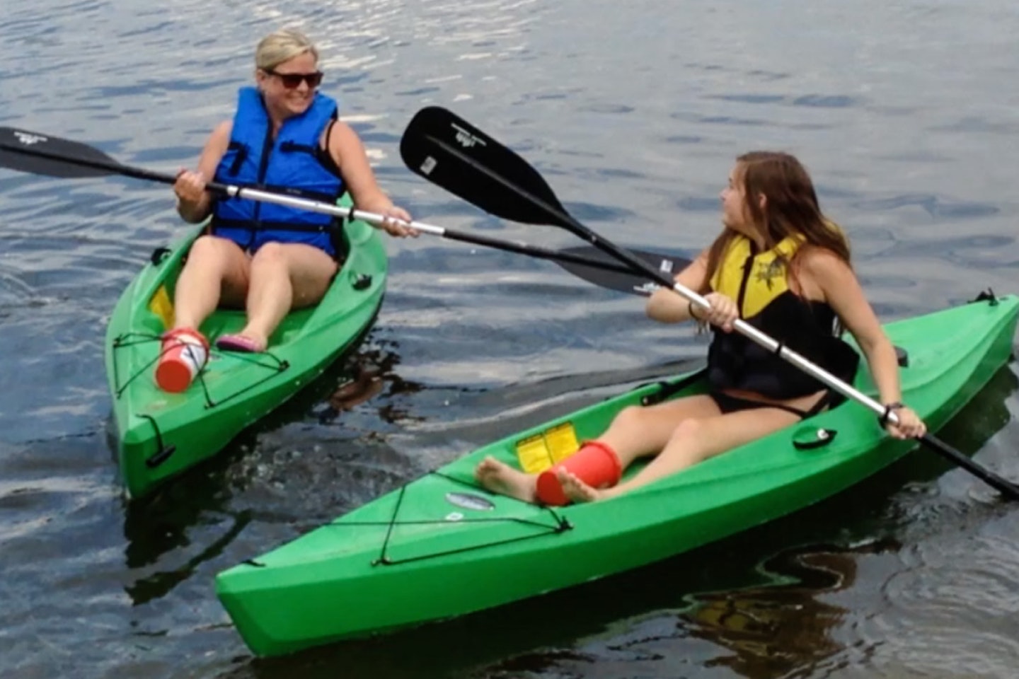
[(633, 478), (614, 488), (593, 489), (573, 474), (560, 473), (562, 490), (574, 502), (615, 497), (669, 476), (702, 460), (789, 427), (800, 418), (779, 408), (755, 408), (703, 419), (686, 419), (662, 451)]

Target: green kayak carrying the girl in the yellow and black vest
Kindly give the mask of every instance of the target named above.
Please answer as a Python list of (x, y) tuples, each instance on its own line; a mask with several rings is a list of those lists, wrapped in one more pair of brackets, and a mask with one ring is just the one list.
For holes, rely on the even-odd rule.
[[(946, 423), (1010, 357), (1019, 298), (889, 324), (904, 400)], [(865, 361), (854, 386), (875, 395)], [(704, 390), (693, 373), (486, 445), (261, 557), (216, 590), (257, 655), (460, 616), (666, 558), (802, 509), (892, 463), (890, 438), (846, 401), (811, 419), (600, 503), (542, 508), (479, 489), (485, 455), (516, 462), (593, 438), (628, 405)], [(628, 470), (633, 473), (634, 469)]]

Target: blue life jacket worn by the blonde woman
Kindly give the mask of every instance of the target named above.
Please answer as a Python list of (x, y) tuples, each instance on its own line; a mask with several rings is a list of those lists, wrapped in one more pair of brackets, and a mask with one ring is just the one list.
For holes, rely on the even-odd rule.
[[(334, 204), (345, 187), (320, 139), (336, 117), (335, 100), (316, 93), (308, 110), (284, 120), (273, 140), (261, 93), (242, 88), (215, 180)], [(307, 243), (335, 256), (339, 224), (331, 215), (244, 199), (221, 199), (212, 209), (212, 233), (252, 252), (276, 241)]]

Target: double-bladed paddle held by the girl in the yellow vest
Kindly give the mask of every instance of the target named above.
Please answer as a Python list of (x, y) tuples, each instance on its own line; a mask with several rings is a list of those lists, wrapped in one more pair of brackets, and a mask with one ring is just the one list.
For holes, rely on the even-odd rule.
[[(463, 118), (441, 107), (422, 109), (400, 140), (400, 155), (414, 172), (493, 215), (526, 224), (562, 227), (610, 254), (649, 281), (673, 288), (701, 309), (709, 307), (700, 294), (676, 283), (672, 276), (602, 238), (574, 219), (552, 192), (548, 182), (527, 161)], [(879, 416), (898, 422), (895, 412), (810, 362), (742, 319), (735, 330), (776, 353), (811, 377)], [(1010, 499), (1019, 499), (1019, 486), (980, 466), (930, 434), (919, 439), (927, 447), (966, 469)]]

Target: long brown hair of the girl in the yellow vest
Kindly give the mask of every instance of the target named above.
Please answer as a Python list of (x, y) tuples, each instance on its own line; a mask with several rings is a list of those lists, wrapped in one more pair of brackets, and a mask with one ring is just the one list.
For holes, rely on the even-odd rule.
[[(750, 220), (764, 234), (765, 249), (770, 249), (789, 236), (798, 236), (804, 244), (823, 247), (850, 265), (849, 241), (828, 220), (817, 203), (817, 193), (810, 175), (794, 156), (773, 151), (752, 151), (736, 159), (737, 180), (743, 183)], [(764, 208), (759, 195), (763, 194)], [(708, 250), (707, 283), (717, 271), (729, 244), (739, 234), (725, 229)], [(789, 271), (795, 277), (797, 250)]]

